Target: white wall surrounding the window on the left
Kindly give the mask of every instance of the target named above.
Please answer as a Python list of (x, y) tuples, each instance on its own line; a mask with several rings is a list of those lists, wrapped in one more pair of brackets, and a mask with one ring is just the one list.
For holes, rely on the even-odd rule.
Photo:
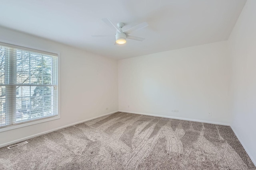
[[(117, 61), (0, 27), (0, 39), (60, 53), (61, 118), (0, 133), (0, 147), (118, 110)], [(106, 110), (108, 107), (108, 110)]]

